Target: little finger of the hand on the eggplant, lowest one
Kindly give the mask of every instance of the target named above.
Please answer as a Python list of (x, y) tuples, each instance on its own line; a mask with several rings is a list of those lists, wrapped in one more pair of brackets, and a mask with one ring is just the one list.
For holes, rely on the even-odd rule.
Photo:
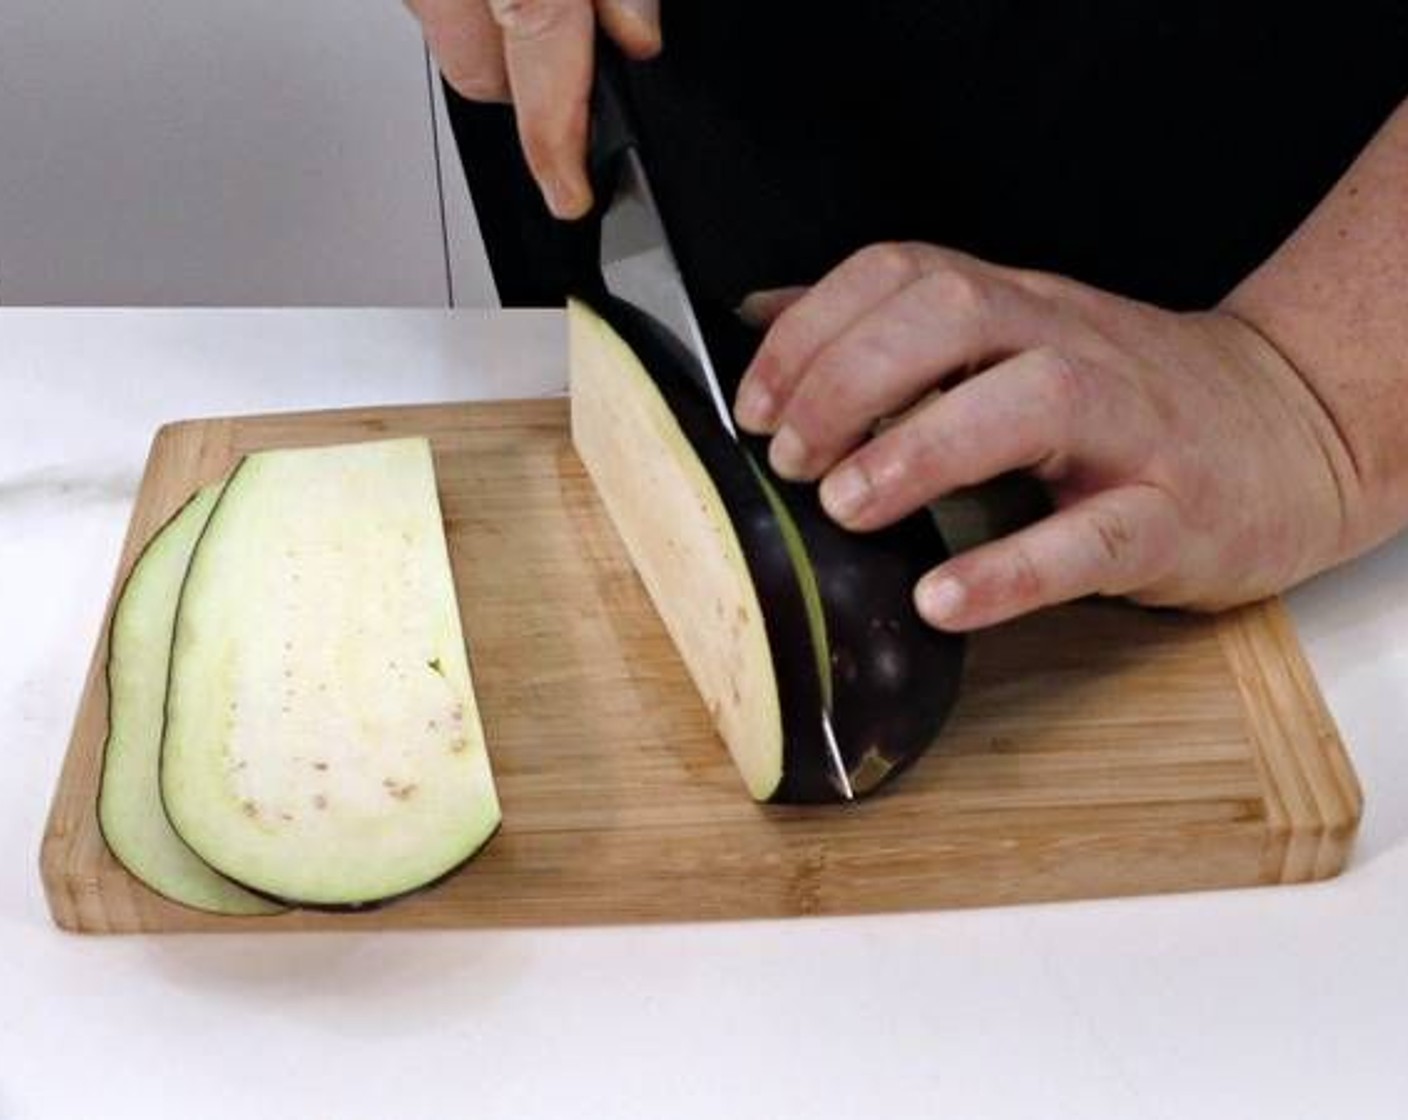
[(1177, 538), (1163, 490), (1102, 490), (934, 569), (915, 587), (915, 607), (931, 626), (960, 631), (1087, 595), (1128, 595), (1171, 568)]

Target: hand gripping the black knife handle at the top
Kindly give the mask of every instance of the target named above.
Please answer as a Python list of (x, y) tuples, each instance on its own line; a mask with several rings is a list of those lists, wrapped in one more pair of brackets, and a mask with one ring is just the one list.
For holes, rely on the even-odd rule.
[(591, 207), (587, 99), (597, 25), (628, 58), (660, 49), (659, 0), (406, 0), (445, 80), (472, 101), (513, 101), (548, 209)]

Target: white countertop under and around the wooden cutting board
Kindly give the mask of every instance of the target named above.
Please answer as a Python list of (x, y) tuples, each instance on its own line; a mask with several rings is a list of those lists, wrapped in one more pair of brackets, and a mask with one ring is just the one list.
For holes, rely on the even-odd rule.
[(549, 313), (0, 310), (0, 1120), (1408, 1114), (1408, 538), (1293, 596), (1324, 885), (884, 919), (94, 938), (37, 871), (163, 421), (565, 380)]

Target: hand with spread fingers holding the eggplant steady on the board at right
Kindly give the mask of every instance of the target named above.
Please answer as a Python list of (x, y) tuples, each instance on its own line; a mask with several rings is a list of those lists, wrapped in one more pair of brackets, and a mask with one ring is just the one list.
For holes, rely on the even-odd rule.
[[(969, 630), (1084, 595), (1219, 607), (1329, 564), (1350, 456), (1295, 369), (1228, 313), (1176, 316), (929, 245), (862, 251), (772, 320), (738, 420), (773, 469), (873, 530), (1029, 471), (1056, 511), (917, 589)], [(872, 435), (879, 421), (900, 417)]]

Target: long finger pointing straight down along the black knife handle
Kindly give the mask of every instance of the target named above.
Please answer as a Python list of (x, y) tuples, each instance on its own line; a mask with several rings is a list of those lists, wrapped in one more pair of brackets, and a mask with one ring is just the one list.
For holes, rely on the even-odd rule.
[(489, 0), (503, 32), (518, 137), (548, 209), (591, 209), (587, 99), (596, 14), (591, 0)]

